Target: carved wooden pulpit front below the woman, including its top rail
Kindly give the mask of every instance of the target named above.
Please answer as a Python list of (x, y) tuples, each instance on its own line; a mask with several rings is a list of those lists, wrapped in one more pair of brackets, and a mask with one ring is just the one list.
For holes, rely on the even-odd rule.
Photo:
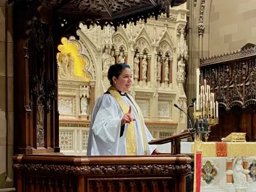
[(17, 192), (185, 192), (192, 182), (189, 163), (182, 155), (20, 155), (13, 157), (13, 170)]

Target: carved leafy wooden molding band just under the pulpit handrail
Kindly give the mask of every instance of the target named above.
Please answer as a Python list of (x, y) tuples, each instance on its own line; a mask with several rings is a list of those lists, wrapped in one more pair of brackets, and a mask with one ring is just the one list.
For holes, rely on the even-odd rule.
[(129, 164), (104, 166), (70, 166), (62, 164), (13, 164), (13, 170), (61, 175), (140, 175), (180, 174), (191, 172), (190, 164)]

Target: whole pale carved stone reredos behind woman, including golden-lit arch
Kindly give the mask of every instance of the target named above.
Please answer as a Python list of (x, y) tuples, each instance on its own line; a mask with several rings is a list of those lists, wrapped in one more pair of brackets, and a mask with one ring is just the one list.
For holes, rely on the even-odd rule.
[(95, 99), (109, 87), (108, 69), (115, 63), (130, 65), (130, 94), (143, 112), (154, 138), (186, 129), (184, 93), (188, 46), (184, 38), (186, 6), (170, 8), (170, 17), (148, 19), (136, 26), (100, 29), (79, 24), (77, 35), (63, 38), (57, 55), (59, 73), (60, 147), (66, 154), (85, 153)]

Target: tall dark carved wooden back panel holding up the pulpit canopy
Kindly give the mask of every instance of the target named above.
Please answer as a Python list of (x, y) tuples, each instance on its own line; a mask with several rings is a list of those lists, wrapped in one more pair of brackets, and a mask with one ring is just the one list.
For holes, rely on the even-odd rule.
[(15, 12), (15, 153), (59, 152), (56, 54), (45, 17), (51, 14), (36, 4)]

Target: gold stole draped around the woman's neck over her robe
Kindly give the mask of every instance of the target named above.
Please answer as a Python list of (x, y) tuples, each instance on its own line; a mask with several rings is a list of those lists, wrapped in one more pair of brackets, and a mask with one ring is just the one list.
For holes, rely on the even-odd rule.
[[(129, 106), (126, 104), (125, 100), (122, 98), (120, 93), (118, 93), (116, 88), (114, 86), (110, 86), (108, 89), (108, 92), (115, 98), (116, 102), (118, 102), (123, 113), (124, 114), (128, 113)], [(128, 97), (129, 100), (131, 100), (127, 94), (125, 94), (125, 95), (126, 95), (126, 97)], [(132, 100), (131, 100), (131, 102), (132, 102)], [(147, 146), (145, 143), (144, 124), (143, 124), (143, 119), (141, 116), (141, 110), (140, 110), (140, 107), (136, 103), (132, 102), (132, 104), (136, 108), (138, 116), (140, 118), (141, 134), (143, 137), (144, 150), (145, 150), (145, 155), (147, 155)], [(136, 133), (135, 133), (134, 122), (131, 122), (127, 126), (126, 147), (127, 147), (127, 155), (128, 156), (136, 156), (137, 155)]]

